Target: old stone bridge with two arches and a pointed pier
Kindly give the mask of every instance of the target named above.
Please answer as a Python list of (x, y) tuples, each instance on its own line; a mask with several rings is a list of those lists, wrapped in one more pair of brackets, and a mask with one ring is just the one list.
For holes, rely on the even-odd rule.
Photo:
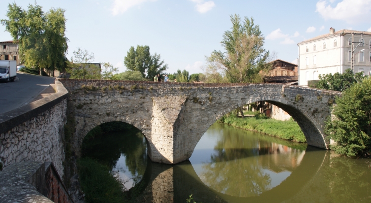
[[(175, 164), (191, 157), (209, 126), (245, 104), (268, 101), (289, 113), (308, 145), (327, 149), (325, 120), (340, 92), (284, 84), (192, 84), (59, 79), (75, 108), (75, 149), (92, 128), (122, 121), (146, 137), (154, 162)], [(77, 153), (81, 153), (78, 151)]]

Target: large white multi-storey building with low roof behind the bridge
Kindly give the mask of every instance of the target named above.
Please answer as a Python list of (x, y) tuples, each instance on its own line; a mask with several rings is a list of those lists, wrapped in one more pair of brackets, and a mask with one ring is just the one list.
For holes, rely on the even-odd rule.
[[(352, 34), (354, 35), (353, 72), (371, 72), (371, 32), (342, 29), (298, 43), (299, 85), (318, 80), (318, 75), (344, 73), (351, 68)], [(359, 46), (358, 46), (359, 45)], [(358, 47), (357, 47), (358, 46)]]

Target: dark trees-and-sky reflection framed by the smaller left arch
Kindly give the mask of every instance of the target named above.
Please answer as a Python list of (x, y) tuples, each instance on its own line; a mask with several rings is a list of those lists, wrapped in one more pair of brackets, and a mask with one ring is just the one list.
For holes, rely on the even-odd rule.
[(82, 144), (82, 158), (90, 157), (111, 168), (126, 189), (138, 183), (147, 166), (143, 133), (123, 122), (104, 123), (92, 129)]

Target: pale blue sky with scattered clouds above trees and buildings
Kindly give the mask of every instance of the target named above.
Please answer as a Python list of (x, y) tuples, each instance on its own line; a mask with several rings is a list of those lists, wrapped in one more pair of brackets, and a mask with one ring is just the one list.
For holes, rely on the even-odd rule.
[[(8, 5), (23, 9), (35, 1), (2, 0), (0, 19)], [(161, 54), (167, 73), (202, 73), (205, 56), (224, 49), (223, 33), (230, 15), (253, 17), (265, 37), (264, 48), (275, 58), (296, 62), (297, 43), (335, 30), (371, 31), (371, 0), (38, 0), (43, 11), (65, 9), (67, 57), (77, 48), (94, 53), (94, 62), (110, 62), (126, 70), (123, 60), (131, 46), (148, 45)], [(0, 25), (0, 41), (12, 40)]]

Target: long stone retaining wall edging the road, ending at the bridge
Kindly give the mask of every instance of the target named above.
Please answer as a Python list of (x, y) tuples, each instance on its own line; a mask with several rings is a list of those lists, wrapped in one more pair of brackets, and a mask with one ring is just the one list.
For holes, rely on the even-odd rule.
[(0, 160), (7, 167), (22, 161), (51, 161), (63, 176), (67, 90), (0, 114)]

